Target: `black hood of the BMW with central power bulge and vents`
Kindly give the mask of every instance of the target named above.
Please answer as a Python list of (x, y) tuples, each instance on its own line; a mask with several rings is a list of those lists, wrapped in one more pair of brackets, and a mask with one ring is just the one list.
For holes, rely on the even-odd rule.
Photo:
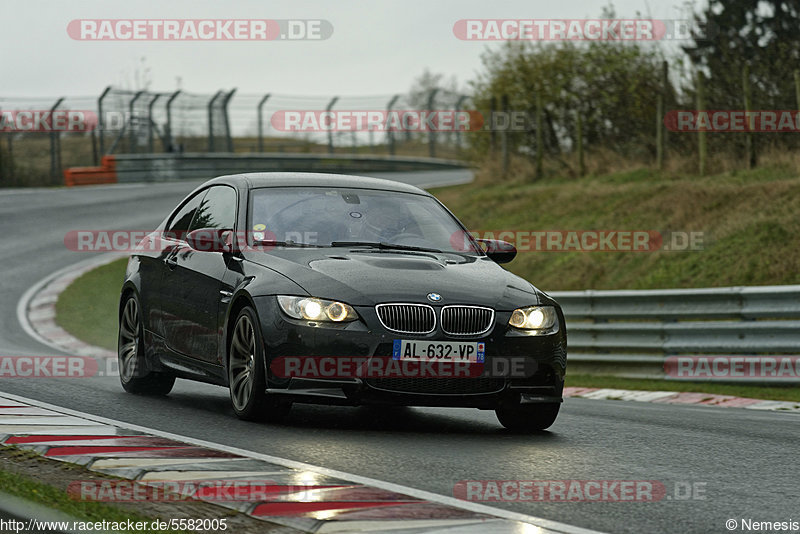
[[(487, 257), (378, 250), (275, 249), (246, 259), (275, 270), (309, 295), (372, 306), (383, 302), (474, 304), (511, 310), (538, 304), (535, 287)], [(264, 288), (269, 291), (269, 288)]]

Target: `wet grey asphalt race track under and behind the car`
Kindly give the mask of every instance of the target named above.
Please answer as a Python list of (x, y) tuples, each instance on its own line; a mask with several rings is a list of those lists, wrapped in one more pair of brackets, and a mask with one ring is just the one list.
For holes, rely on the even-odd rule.
[[(459, 173), (392, 177), (444, 184)], [(0, 354), (53, 354), (25, 334), (16, 306), (29, 286), (88, 257), (64, 247), (66, 232), (153, 228), (194, 185), (0, 190)], [(731, 518), (800, 517), (796, 414), (568, 399), (550, 432), (517, 436), (493, 412), (467, 409), (296, 405), (285, 424), (245, 423), (226, 390), (181, 380), (165, 399), (127, 395), (113, 377), (0, 379), (0, 392), (444, 495), (460, 480), (664, 483), (656, 503), (495, 505), (607, 532), (728, 532)], [(686, 483), (704, 498), (676, 498)]]

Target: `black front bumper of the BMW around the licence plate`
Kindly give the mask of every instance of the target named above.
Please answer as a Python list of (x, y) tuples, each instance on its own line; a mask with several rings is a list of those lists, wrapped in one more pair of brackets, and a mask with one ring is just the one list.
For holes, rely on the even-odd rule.
[[(555, 303), (552, 303), (556, 305)], [(400, 334), (386, 329), (372, 307), (356, 307), (360, 320), (345, 324), (314, 323), (287, 317), (275, 297), (256, 299), (267, 359), (268, 392), (292, 402), (459, 406), (494, 409), (506, 404), (561, 402), (566, 370), (566, 329), (525, 335), (508, 327), (511, 312), (496, 312), (492, 328), (481, 336), (448, 335), (437, 327), (429, 334)], [(557, 305), (556, 305), (557, 307)], [(484, 342), (484, 373), (479, 377), (283, 378), (270, 371), (279, 357), (391, 358), (395, 339)], [(509, 374), (508, 364), (523, 363)], [(480, 364), (477, 364), (480, 365)], [(524, 372), (519, 370), (524, 369)]]

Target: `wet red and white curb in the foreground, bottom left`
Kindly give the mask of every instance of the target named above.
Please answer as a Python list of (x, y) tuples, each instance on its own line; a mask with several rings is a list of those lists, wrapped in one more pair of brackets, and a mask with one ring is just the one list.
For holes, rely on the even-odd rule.
[[(268, 490), (236, 501), (200, 500), (316, 533), (592, 534), (595, 531), (379, 480), (177, 436), (0, 393), (0, 443), (133, 480), (268, 479)], [(299, 488), (298, 488), (299, 486)]]

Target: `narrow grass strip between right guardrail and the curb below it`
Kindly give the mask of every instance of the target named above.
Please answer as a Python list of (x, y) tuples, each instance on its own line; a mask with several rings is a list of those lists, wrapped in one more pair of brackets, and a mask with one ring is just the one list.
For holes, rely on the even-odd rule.
[(570, 374), (567, 367), (566, 385), (569, 387), (635, 389), (643, 391), (687, 391), (732, 395), (751, 399), (780, 400), (800, 402), (800, 389), (797, 386), (770, 387), (739, 384), (718, 384), (714, 382), (679, 382), (677, 380), (656, 380), (641, 378), (619, 378), (615, 376), (596, 376)]

